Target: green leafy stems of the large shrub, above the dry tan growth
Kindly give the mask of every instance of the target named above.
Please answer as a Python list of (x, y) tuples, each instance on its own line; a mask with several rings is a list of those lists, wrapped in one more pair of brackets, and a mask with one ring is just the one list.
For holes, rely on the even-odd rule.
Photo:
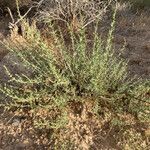
[[(107, 103), (112, 111), (140, 115), (149, 109), (149, 105), (146, 106), (149, 103), (149, 81), (128, 79), (127, 62), (115, 56), (111, 46), (113, 27), (106, 46), (95, 30), (90, 52), (87, 52), (85, 30), (81, 30), (78, 36), (70, 32), (72, 43), (68, 50), (63, 37), (56, 34), (52, 25), (49, 28), (55, 48), (48, 46), (40, 33), (31, 27), (25, 34), (30, 38), (32, 34), (31, 45), (13, 50), (26, 67), (34, 70), (33, 76), (27, 77), (13, 76), (6, 69), (12, 86), (1, 91), (13, 99), (15, 106), (62, 110), (68, 102), (89, 96), (102, 104)], [(13, 83), (19, 86), (13, 86)]]

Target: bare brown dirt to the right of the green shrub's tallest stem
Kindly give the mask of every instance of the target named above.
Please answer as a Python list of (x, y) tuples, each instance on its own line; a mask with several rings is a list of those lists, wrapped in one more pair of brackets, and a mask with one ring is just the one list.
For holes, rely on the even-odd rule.
[(132, 75), (150, 77), (150, 16), (141, 12), (121, 17), (117, 22), (115, 43), (122, 46), (125, 40), (129, 71)]

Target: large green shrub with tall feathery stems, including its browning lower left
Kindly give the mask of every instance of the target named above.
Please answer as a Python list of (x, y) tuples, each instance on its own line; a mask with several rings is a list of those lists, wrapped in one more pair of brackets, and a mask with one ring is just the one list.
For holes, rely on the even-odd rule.
[(10, 80), (1, 85), (1, 92), (12, 100), (4, 106), (32, 110), (34, 125), (53, 129), (54, 133), (68, 124), (71, 105), (84, 106), (89, 99), (94, 103), (93, 114), (100, 115), (107, 109), (112, 120), (130, 114), (149, 122), (150, 81), (128, 77), (127, 62), (112, 48), (114, 23), (115, 13), (106, 44), (98, 36), (96, 25), (88, 51), (86, 29), (78, 33), (70, 30), (71, 43), (66, 45), (62, 32), (49, 23), (47, 33), (53, 39), (50, 44), (35, 25), (23, 22), (25, 44), (10, 47), (9, 43), (8, 47), (33, 74), (12, 75), (6, 68)]

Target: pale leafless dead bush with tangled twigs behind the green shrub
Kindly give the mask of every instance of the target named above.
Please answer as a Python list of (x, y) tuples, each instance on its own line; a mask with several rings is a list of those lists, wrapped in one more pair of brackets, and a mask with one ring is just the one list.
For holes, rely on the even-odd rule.
[(59, 20), (75, 28), (85, 28), (102, 19), (111, 0), (52, 0), (43, 1), (39, 9), (39, 20)]

